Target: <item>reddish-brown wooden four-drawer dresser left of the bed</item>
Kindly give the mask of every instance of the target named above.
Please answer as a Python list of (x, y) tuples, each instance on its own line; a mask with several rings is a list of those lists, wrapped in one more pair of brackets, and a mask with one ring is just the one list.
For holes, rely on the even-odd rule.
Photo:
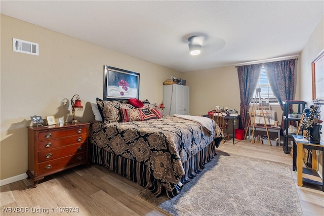
[(28, 128), (28, 178), (36, 187), (45, 176), (73, 166), (88, 166), (89, 123)]

